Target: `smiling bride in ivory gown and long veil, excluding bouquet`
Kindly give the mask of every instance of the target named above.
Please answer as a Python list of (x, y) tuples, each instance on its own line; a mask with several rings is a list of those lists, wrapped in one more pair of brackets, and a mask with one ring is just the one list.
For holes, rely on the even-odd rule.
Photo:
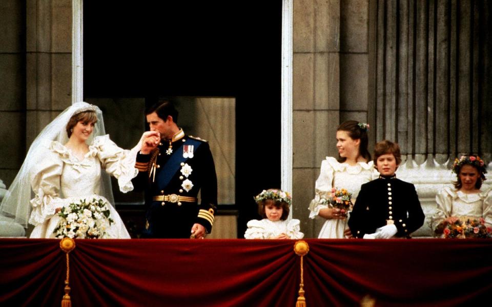
[[(123, 150), (104, 135), (103, 116), (96, 106), (75, 103), (36, 137), (23, 166), (0, 205), (0, 213), (27, 227), (31, 238), (54, 238), (58, 212), (70, 203), (101, 199), (114, 221), (104, 238), (130, 238), (113, 208), (112, 175), (122, 192), (133, 190), (131, 179), (139, 146)], [(33, 194), (31, 194), (31, 188)]]

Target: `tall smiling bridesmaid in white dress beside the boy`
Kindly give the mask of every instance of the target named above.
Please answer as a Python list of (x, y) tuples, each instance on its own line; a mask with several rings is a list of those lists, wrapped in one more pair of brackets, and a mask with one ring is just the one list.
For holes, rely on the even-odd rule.
[[(315, 185), (315, 198), (309, 205), (309, 217), (320, 216), (325, 220), (318, 238), (342, 239), (352, 237), (347, 226), (346, 214), (332, 208), (326, 202), (332, 189), (345, 189), (357, 198), (362, 183), (378, 178), (371, 154), (367, 150), (369, 125), (356, 120), (342, 122), (337, 128), (339, 158), (326, 157)], [(354, 201), (352, 201), (354, 202)]]

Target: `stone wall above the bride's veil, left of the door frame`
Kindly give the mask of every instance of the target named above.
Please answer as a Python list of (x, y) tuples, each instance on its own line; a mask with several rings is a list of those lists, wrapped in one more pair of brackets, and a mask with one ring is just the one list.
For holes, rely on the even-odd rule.
[(71, 104), (72, 4), (0, 7), (0, 178), (8, 187), (34, 137)]

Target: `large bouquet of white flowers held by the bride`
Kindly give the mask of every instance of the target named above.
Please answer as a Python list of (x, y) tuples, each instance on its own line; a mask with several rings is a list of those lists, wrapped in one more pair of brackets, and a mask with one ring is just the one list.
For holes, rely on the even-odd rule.
[(108, 203), (101, 199), (70, 203), (58, 212), (60, 221), (53, 231), (57, 238), (97, 239), (106, 236), (114, 222), (109, 217)]

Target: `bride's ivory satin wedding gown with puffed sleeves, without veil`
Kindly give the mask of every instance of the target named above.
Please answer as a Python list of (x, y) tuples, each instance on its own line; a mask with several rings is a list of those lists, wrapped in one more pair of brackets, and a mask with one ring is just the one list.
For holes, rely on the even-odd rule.
[(54, 238), (54, 229), (60, 217), (56, 208), (67, 207), (71, 202), (102, 199), (108, 203), (110, 218), (114, 220), (104, 238), (130, 238), (119, 214), (112, 204), (99, 195), (101, 170), (118, 179), (122, 192), (133, 190), (131, 179), (138, 170), (134, 168), (130, 151), (123, 150), (109, 139), (98, 136), (89, 146), (83, 160), (78, 160), (64, 145), (51, 141), (46, 156), (30, 172), (34, 198), (29, 223), (34, 225), (31, 238)]

